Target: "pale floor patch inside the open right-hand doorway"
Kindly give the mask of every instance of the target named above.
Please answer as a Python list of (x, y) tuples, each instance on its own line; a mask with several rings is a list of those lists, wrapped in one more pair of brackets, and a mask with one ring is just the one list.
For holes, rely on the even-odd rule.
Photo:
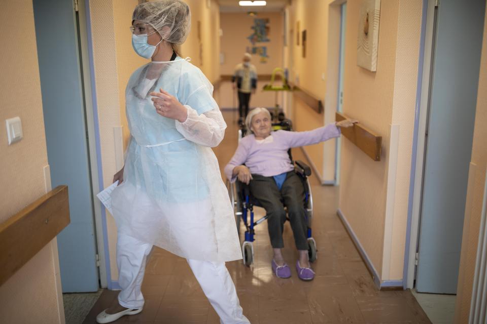
[(433, 324), (453, 324), (456, 295), (421, 294), (415, 290), (412, 294)]

